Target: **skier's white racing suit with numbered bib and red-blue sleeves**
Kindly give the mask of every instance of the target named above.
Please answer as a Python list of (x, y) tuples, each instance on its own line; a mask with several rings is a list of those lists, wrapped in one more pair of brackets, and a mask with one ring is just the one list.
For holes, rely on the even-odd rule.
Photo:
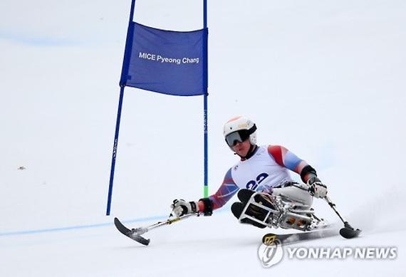
[[(289, 170), (301, 176), (304, 183), (316, 177), (316, 170), (293, 152), (279, 145), (256, 147), (249, 159), (241, 159), (231, 167), (224, 177), (222, 185), (215, 194), (204, 201), (204, 211), (218, 209), (226, 204), (239, 189), (252, 189), (285, 196), (310, 207), (311, 195), (298, 187), (288, 185), (293, 182)], [(211, 212), (209, 211), (209, 212)]]

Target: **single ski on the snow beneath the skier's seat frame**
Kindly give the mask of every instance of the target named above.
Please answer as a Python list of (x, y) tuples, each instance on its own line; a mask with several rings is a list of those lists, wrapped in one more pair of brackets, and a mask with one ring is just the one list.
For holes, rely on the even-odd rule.
[(296, 244), (302, 241), (312, 241), (315, 239), (324, 239), (331, 236), (338, 236), (338, 230), (332, 228), (318, 229), (313, 231), (304, 231), (294, 234), (266, 234), (262, 238), (262, 242), (266, 244), (269, 238), (279, 239), (282, 245)]

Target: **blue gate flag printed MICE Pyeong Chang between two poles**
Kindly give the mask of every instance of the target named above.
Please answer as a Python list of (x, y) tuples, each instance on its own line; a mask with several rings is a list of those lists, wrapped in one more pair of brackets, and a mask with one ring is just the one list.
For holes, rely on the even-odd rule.
[(207, 94), (207, 28), (166, 31), (130, 22), (120, 85), (169, 95)]

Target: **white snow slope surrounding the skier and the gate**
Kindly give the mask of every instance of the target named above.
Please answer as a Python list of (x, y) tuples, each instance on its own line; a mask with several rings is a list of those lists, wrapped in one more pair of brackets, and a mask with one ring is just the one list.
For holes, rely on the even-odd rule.
[[(201, 2), (137, 0), (135, 18), (197, 29)], [(222, 125), (247, 115), (260, 144), (284, 145), (316, 167), (340, 212), (363, 229), (351, 241), (301, 245), (397, 246), (397, 258), (262, 268), (256, 252), (268, 230), (238, 224), (229, 206), (151, 231), (148, 247), (122, 236), (113, 216), (145, 226), (165, 219), (172, 199), (202, 197), (202, 98), (127, 88), (105, 216), (130, 1), (4, 0), (0, 276), (405, 276), (406, 2), (208, 7), (210, 192), (236, 162)]]

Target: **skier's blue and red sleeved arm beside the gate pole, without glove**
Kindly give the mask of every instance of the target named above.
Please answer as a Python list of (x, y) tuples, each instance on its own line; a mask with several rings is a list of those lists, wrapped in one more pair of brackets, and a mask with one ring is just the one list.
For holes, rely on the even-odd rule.
[(199, 211), (204, 212), (204, 214), (211, 214), (214, 209), (224, 206), (238, 190), (239, 187), (231, 177), (231, 169), (229, 169), (217, 192), (199, 200)]

